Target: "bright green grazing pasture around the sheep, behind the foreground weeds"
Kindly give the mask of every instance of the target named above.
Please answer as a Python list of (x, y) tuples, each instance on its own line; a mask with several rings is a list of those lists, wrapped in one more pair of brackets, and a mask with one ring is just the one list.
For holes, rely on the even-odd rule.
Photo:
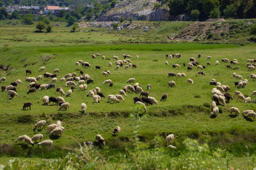
[[(63, 36), (67, 33), (63, 33)], [(29, 37), (29, 36), (28, 36)], [(8, 41), (8, 44), (10, 41)], [(209, 118), (209, 110), (207, 108), (184, 108), (184, 105), (202, 105), (203, 103), (210, 103), (211, 89), (209, 81), (215, 78), (222, 84), (229, 85), (232, 90), (231, 94), (236, 90), (233, 87), (232, 73), (236, 72), (241, 74), (243, 78), (249, 80), (249, 84), (246, 88), (240, 91), (243, 94), (250, 95), (255, 90), (255, 82), (251, 81), (249, 76), (251, 71), (247, 71), (245, 68), (247, 58), (255, 58), (255, 45), (247, 46), (232, 46), (232, 45), (201, 45), (201, 44), (164, 44), (164, 45), (85, 45), (85, 46), (65, 46), (61, 48), (51, 47), (40, 47), (31, 46), (28, 48), (13, 48), (13, 46), (26, 46), (27, 42), (16, 43), (15, 45), (9, 45), (2, 49), (1, 60), (6, 65), (14, 67), (14, 71), (7, 71), (6, 82), (2, 84), (9, 85), (16, 79), (22, 79), (23, 84), (18, 86), (19, 97), (14, 97), (13, 100), (8, 100), (5, 92), (0, 94), (0, 102), (2, 108), (1, 114), (1, 128), (0, 137), (1, 143), (10, 143), (15, 148), (18, 156), (28, 156), (27, 149), (20, 150), (20, 146), (15, 146), (15, 139), (22, 134), (27, 134), (30, 137), (34, 134), (42, 133), (45, 139), (49, 139), (46, 130), (43, 131), (32, 131), (34, 124), (39, 120), (46, 120), (50, 124), (55, 123), (57, 120), (63, 122), (65, 127), (64, 137), (54, 139), (54, 143), (57, 146), (73, 146), (76, 145), (76, 140), (81, 142), (84, 140), (94, 141), (96, 134), (102, 134), (106, 139), (107, 146), (105, 147), (102, 154), (109, 156), (108, 159), (111, 162), (115, 162), (115, 159), (119, 159), (119, 155), (115, 147), (115, 141), (111, 137), (112, 130), (115, 126), (119, 125), (122, 129), (122, 134), (117, 137), (117, 141), (123, 137), (127, 137), (132, 141), (133, 138), (133, 125), (134, 122), (131, 118), (126, 117), (123, 112), (131, 112), (133, 107), (133, 97), (138, 96), (136, 94), (127, 94), (125, 97), (125, 103), (112, 104), (106, 103), (106, 99), (102, 99), (100, 104), (93, 103), (93, 99), (86, 97), (88, 90), (98, 86), (101, 91), (104, 92), (105, 96), (109, 94), (118, 94), (119, 89), (125, 86), (126, 80), (134, 77), (135, 82), (139, 82), (143, 89), (146, 89), (148, 83), (152, 84), (152, 90), (150, 95), (158, 100), (157, 106), (147, 106), (148, 113), (151, 114), (147, 120), (143, 122), (139, 128), (142, 139), (146, 140), (146, 145), (141, 142), (141, 147), (148, 147), (152, 141), (152, 135), (162, 135), (162, 143), (164, 143), (164, 137), (167, 133), (174, 133), (177, 141), (176, 146), (181, 145), (183, 139), (188, 136), (192, 138), (198, 138), (202, 142), (206, 141), (216, 145), (220, 144), (224, 148), (232, 148), (229, 143), (242, 142), (251, 143), (246, 141), (252, 139), (255, 141), (255, 128), (252, 128), (255, 122), (246, 121), (243, 119), (241, 114), (235, 118), (229, 116), (229, 108), (237, 107), (240, 111), (246, 109), (256, 109), (255, 104), (245, 104), (239, 101), (233, 100), (230, 104), (226, 104), (224, 107), (224, 113), (219, 114), (217, 118)], [(57, 44), (56, 44), (57, 45)], [(213, 48), (214, 47), (214, 48)], [(60, 50), (61, 49), (61, 50)], [(101, 53), (110, 60), (102, 60), (100, 57), (92, 59), (92, 54)], [(122, 54), (131, 54), (131, 56), (139, 56), (139, 59), (132, 59), (132, 63), (137, 64), (137, 69), (123, 70), (122, 68), (118, 71), (114, 70), (114, 67), (108, 67), (108, 62), (114, 63), (112, 58), (113, 55), (119, 56), (121, 59)], [(165, 54), (180, 53), (181, 58), (177, 59), (165, 59)], [(182, 65), (183, 62), (188, 63), (190, 57), (197, 57), (197, 54), (201, 53), (202, 57), (198, 59), (200, 65), (205, 64), (205, 58), (212, 56), (212, 66), (208, 66), (205, 71), (206, 76), (199, 77), (197, 70), (187, 72), (184, 67), (172, 69), (172, 63), (179, 63)], [(11, 57), (10, 57), (11, 56)], [(48, 58), (50, 59), (47, 62)], [(26, 58), (26, 59), (24, 59)], [(43, 59), (42, 59), (43, 58)], [(218, 66), (214, 66), (214, 61), (221, 58), (233, 58), (238, 59), (240, 62), (239, 70), (228, 70), (226, 69), (226, 63), (220, 63)], [(90, 69), (84, 69), (81, 66), (75, 66), (75, 62), (79, 59), (87, 61), (92, 65)], [(153, 62), (153, 59), (158, 61)], [(164, 65), (164, 62), (168, 61), (170, 65)], [(22, 67), (28, 65), (27, 67)], [(102, 70), (95, 70), (94, 66), (100, 65), (104, 69), (110, 70), (111, 74), (108, 77), (102, 76)], [(94, 79), (94, 84), (88, 85), (88, 90), (85, 92), (78, 92), (77, 89), (71, 97), (65, 97), (65, 100), (71, 103), (69, 111), (57, 111), (57, 106), (43, 106), (42, 98), (45, 95), (48, 96), (59, 96), (55, 90), (43, 90), (38, 91), (36, 94), (27, 95), (28, 83), (24, 82), (27, 77), (24, 73), (26, 69), (31, 69), (33, 74), (31, 76), (37, 76), (43, 74), (39, 72), (39, 67), (45, 66), (46, 71), (49, 73), (53, 72), (53, 69), (60, 69), (58, 74), (58, 80), (67, 73), (76, 72), (79, 74), (79, 69), (84, 70), (85, 73), (90, 74)], [(187, 78), (194, 80), (193, 85), (187, 84), (187, 78), (167, 78), (168, 72), (174, 73), (185, 73)], [(102, 82), (106, 79), (112, 79), (114, 82), (113, 87), (108, 85), (103, 86)], [(168, 88), (168, 81), (174, 80), (177, 84), (175, 88)], [(44, 78), (40, 83), (50, 83), (50, 79)], [(67, 92), (68, 87), (64, 87), (63, 82), (57, 81), (56, 86), (63, 87), (64, 91)], [(168, 94), (168, 100), (160, 102), (160, 97), (164, 92)], [(194, 96), (199, 94), (201, 98), (195, 98)], [(255, 97), (252, 97), (255, 99)], [(22, 105), (25, 101), (32, 102), (31, 111), (22, 111)], [(86, 103), (88, 109), (86, 114), (80, 113), (80, 104)], [(14, 106), (14, 107), (13, 107)], [(182, 109), (181, 109), (182, 108)], [(179, 112), (179, 109), (180, 112)], [(174, 112), (176, 111), (176, 112)], [(101, 114), (98, 114), (101, 113)], [(174, 114), (175, 113), (175, 114)], [(176, 115), (177, 114), (177, 115)], [(108, 116), (106, 116), (108, 115)], [(119, 116), (113, 116), (119, 115)], [(155, 115), (155, 116), (154, 116)], [(167, 115), (167, 116), (164, 116)], [(10, 126), (10, 124), (14, 126)], [(159, 126), (160, 125), (160, 126)], [(255, 127), (255, 126), (254, 126)], [(223, 135), (225, 134), (225, 135)], [(109, 143), (109, 146), (108, 146)], [(222, 144), (223, 143), (223, 144)], [(131, 142), (121, 142), (121, 150), (124, 147), (131, 147)], [(240, 147), (242, 148), (242, 147)], [(31, 155), (36, 158), (55, 158), (57, 154), (65, 155), (66, 151), (51, 151), (51, 154), (41, 154), (36, 148), (32, 148)], [(254, 148), (255, 151), (255, 148)], [(241, 156), (246, 152), (245, 148), (241, 151), (233, 151)], [(242, 152), (242, 154), (241, 154)], [(34, 156), (33, 156), (34, 155)]]

